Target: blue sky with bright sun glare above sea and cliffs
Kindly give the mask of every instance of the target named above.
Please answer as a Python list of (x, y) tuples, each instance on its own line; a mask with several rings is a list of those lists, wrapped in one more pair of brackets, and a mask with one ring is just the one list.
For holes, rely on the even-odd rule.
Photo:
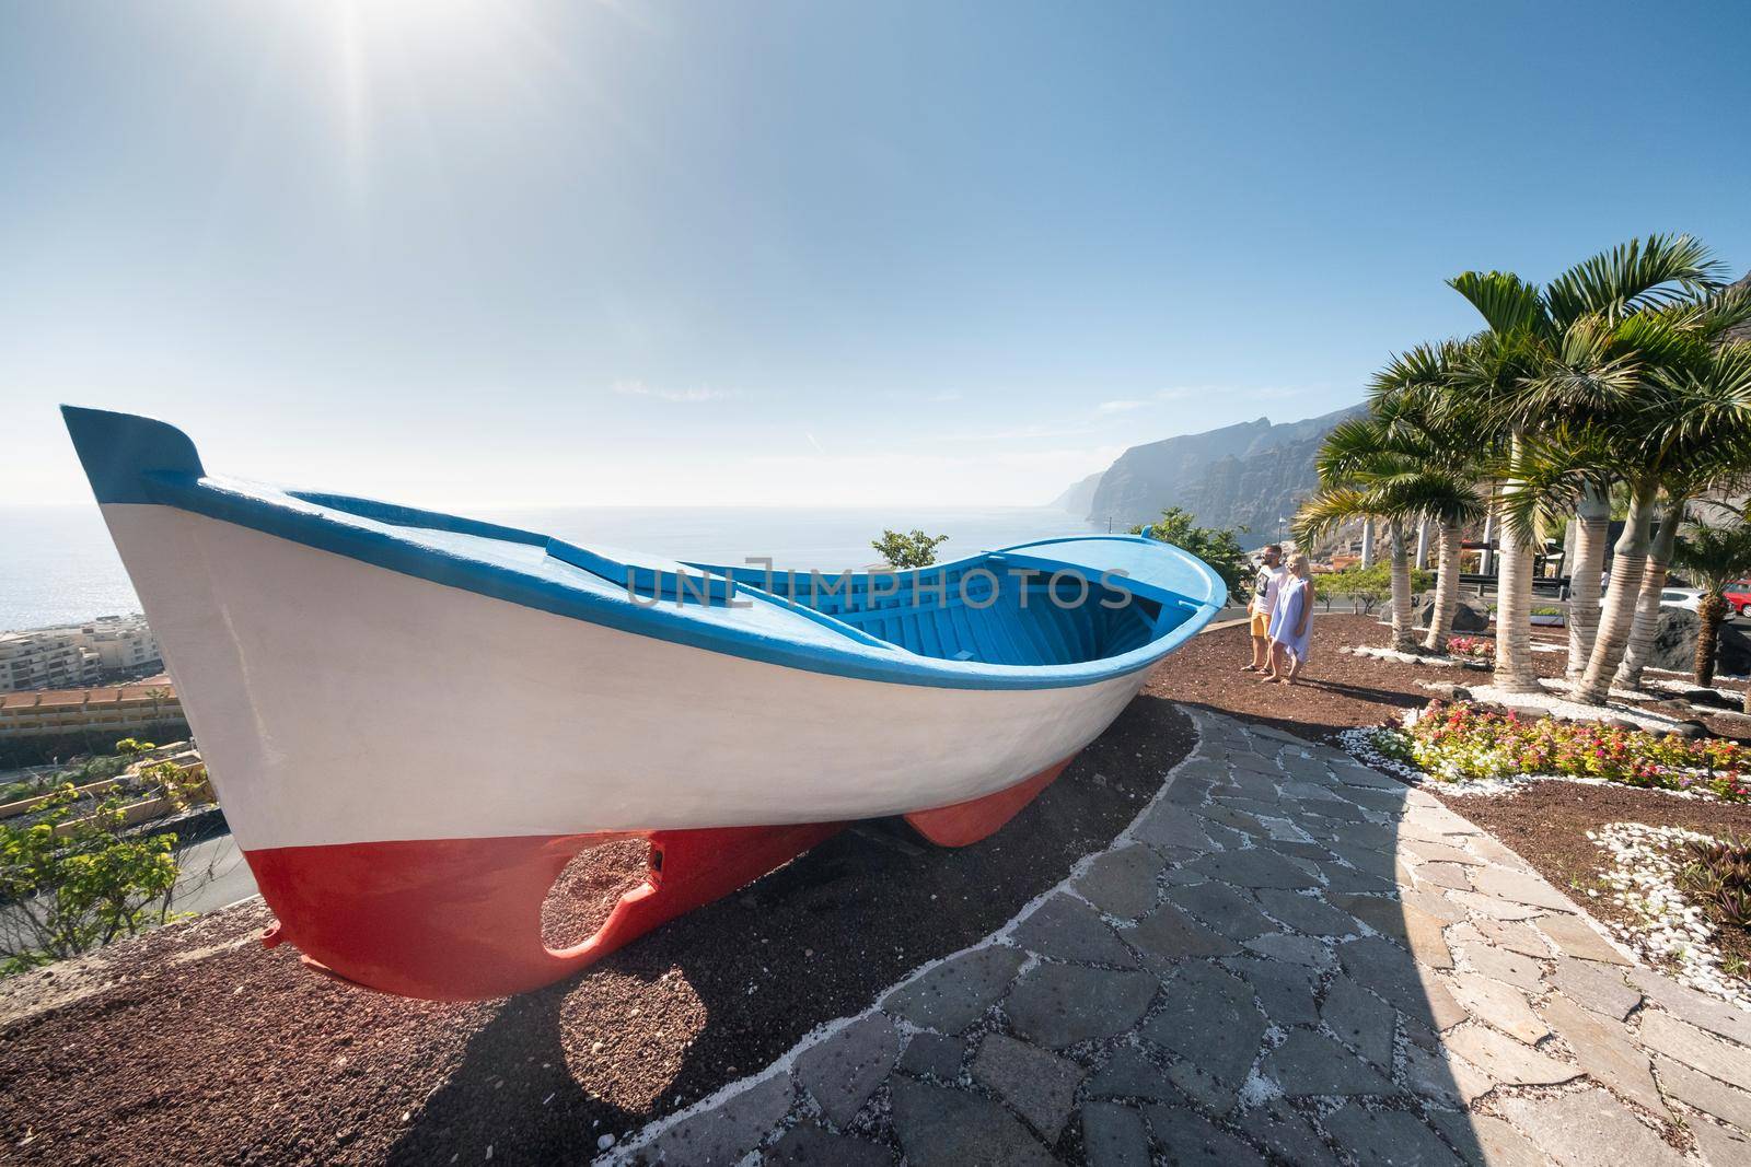
[(1733, 3), (0, 0), (0, 504), (58, 402), (445, 509), (1035, 506), (1445, 287), (1751, 268)]

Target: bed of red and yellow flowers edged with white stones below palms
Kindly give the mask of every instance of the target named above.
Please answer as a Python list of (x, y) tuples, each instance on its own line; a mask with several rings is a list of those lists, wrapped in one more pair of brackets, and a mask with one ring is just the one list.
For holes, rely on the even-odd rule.
[(1681, 738), (1578, 721), (1522, 721), (1467, 702), (1431, 702), (1408, 728), (1382, 728), (1387, 758), (1448, 782), (1565, 775), (1751, 800), (1751, 756), (1723, 738)]

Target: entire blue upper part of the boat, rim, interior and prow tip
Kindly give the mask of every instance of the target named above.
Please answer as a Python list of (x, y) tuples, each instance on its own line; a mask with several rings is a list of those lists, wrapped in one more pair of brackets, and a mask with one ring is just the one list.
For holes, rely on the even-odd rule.
[(100, 504), (173, 506), (445, 586), (816, 672), (951, 688), (1087, 684), (1157, 660), (1226, 600), (1206, 563), (1136, 535), (1044, 539), (902, 572), (681, 563), (212, 476), (163, 422), (63, 413)]

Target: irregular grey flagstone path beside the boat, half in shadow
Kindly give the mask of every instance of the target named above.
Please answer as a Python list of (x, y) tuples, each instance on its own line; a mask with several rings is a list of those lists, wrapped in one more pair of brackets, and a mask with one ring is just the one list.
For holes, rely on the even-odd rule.
[(1429, 794), (1194, 716), (1023, 917), (608, 1158), (1751, 1164), (1751, 1015)]

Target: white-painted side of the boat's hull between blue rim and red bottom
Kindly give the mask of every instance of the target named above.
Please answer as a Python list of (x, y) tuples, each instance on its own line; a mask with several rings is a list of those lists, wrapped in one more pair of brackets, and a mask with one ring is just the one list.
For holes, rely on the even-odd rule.
[(890, 684), (688, 647), (107, 504), (245, 850), (828, 822), (1010, 787), (1147, 670)]

